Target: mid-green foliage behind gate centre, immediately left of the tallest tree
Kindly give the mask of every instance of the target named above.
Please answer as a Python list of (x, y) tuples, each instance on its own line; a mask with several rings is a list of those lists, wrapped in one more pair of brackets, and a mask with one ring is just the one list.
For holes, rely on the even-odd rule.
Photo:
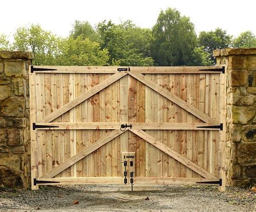
[(97, 26), (102, 49), (109, 50), (110, 65), (120, 66), (152, 66), (150, 55), (151, 33), (148, 29), (140, 29), (131, 21), (113, 24), (111, 21), (99, 23)]

